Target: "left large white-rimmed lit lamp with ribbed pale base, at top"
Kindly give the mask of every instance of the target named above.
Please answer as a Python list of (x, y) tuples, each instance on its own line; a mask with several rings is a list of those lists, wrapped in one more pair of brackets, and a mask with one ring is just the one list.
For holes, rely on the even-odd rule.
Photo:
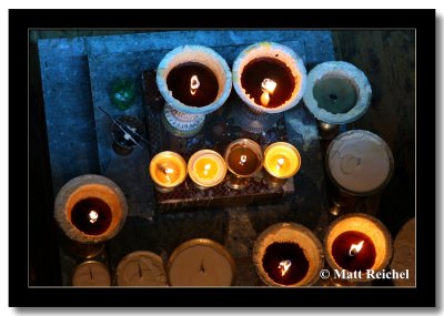
[(176, 136), (193, 136), (205, 114), (218, 110), (230, 95), (231, 71), (225, 60), (203, 45), (183, 45), (159, 63), (157, 84), (165, 100), (162, 122)]

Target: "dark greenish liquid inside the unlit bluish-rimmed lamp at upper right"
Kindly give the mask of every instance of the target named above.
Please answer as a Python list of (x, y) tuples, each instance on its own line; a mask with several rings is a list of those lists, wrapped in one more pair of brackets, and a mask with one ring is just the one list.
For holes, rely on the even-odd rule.
[(313, 96), (317, 106), (333, 114), (346, 113), (357, 100), (356, 88), (346, 78), (325, 77), (314, 85)]

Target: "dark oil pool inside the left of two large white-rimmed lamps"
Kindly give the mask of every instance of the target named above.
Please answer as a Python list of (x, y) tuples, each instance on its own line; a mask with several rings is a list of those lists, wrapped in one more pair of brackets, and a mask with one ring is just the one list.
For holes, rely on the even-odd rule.
[[(199, 80), (199, 88), (192, 91), (191, 86), (195, 86), (193, 75)], [(219, 92), (215, 74), (199, 62), (185, 62), (174, 67), (167, 77), (167, 85), (174, 99), (190, 106), (209, 105), (214, 102)]]

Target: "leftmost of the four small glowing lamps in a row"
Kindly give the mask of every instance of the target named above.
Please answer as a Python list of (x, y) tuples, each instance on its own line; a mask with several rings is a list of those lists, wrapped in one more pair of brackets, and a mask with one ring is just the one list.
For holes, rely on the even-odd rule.
[(186, 179), (186, 162), (171, 151), (160, 152), (150, 162), (150, 175), (159, 192), (171, 192)]

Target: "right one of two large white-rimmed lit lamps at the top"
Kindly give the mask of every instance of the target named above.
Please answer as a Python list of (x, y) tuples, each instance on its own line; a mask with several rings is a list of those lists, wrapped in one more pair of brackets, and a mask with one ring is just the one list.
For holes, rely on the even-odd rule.
[(302, 99), (305, 80), (304, 63), (289, 47), (274, 42), (248, 47), (233, 63), (233, 86), (256, 115), (252, 119), (235, 108), (235, 120), (246, 130), (249, 120), (262, 123), (262, 131), (270, 129), (280, 118), (276, 113), (290, 110)]

